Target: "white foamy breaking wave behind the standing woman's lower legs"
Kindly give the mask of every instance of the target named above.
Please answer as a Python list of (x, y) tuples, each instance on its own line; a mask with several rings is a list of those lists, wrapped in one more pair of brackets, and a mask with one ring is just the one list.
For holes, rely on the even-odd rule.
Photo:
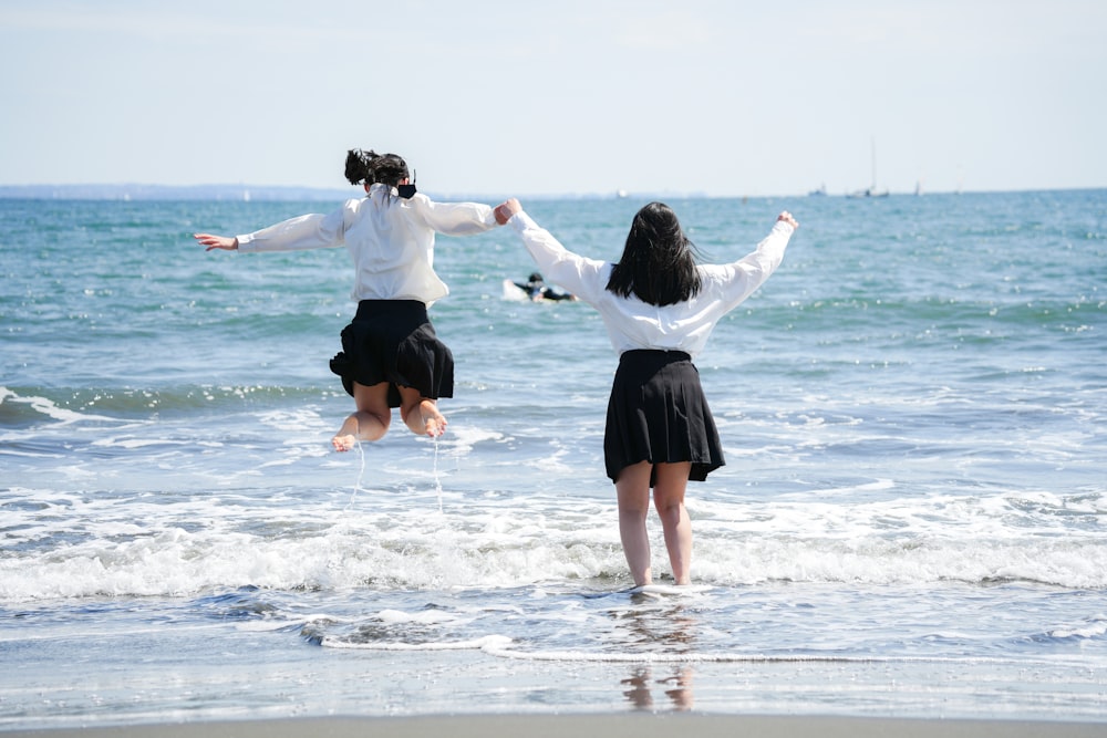
[[(611, 502), (449, 498), (442, 512), (427, 514), (410, 496), (363, 491), (351, 507), (348, 491), (337, 495), (341, 505), (235, 491), (145, 497), (15, 488), (6, 500), (9, 555), (0, 560), (0, 602), (246, 585), (331, 590), (369, 580), (399, 589), (504, 588), (549, 578), (587, 581), (625, 568)], [(1103, 501), (1085, 497), (1079, 505), (1099, 509)], [(697, 501), (690, 503), (694, 575), (708, 586), (1107, 586), (1107, 541), (1094, 526), (1066, 529), (1066, 506), (1045, 495), (848, 507)], [(650, 528), (659, 541), (655, 571), (665, 572), (652, 519)], [(56, 543), (43, 543), (51, 540)]]

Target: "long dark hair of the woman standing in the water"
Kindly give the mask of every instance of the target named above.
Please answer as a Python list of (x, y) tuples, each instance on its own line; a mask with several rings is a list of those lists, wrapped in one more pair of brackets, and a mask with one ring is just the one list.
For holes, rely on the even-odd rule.
[(695, 245), (684, 235), (676, 214), (664, 202), (650, 202), (634, 216), (608, 289), (651, 305), (684, 302), (703, 285), (695, 266)]

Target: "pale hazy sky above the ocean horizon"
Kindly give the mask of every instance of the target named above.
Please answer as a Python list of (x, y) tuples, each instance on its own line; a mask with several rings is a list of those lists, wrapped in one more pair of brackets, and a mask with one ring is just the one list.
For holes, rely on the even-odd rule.
[(1103, 0), (0, 0), (0, 184), (1107, 186)]

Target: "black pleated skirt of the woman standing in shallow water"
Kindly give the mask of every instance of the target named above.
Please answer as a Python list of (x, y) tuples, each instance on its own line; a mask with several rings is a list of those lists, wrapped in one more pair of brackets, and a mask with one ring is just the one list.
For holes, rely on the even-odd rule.
[[(705, 480), (725, 464), (700, 372), (686, 353), (622, 354), (608, 401), (603, 460), (611, 481), (624, 467), (640, 461), (691, 461), (692, 481)], [(650, 486), (655, 481), (654, 472)]]

